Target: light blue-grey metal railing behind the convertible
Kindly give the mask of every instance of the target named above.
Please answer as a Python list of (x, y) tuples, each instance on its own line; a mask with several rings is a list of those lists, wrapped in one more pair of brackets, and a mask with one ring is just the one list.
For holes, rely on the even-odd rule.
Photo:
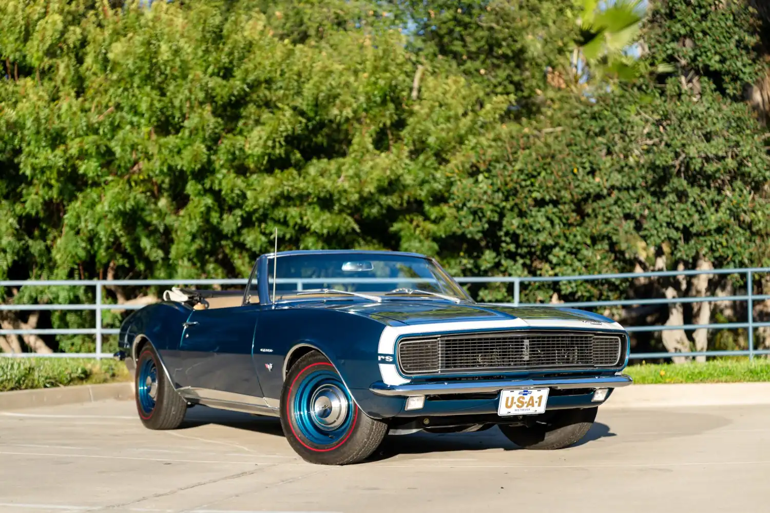
[[(710, 323), (705, 325), (647, 325), (647, 326), (627, 326), (629, 332), (641, 331), (666, 331), (666, 330), (697, 330), (697, 329), (738, 329), (745, 328), (748, 331), (748, 349), (733, 351), (688, 351), (688, 352), (647, 352), (631, 353), (631, 359), (641, 358), (674, 358), (691, 356), (739, 356), (747, 355), (754, 358), (755, 355), (770, 355), (770, 349), (756, 349), (754, 347), (754, 330), (770, 326), (770, 322), (755, 321), (753, 308), (755, 301), (765, 301), (770, 299), (770, 295), (757, 295), (753, 291), (754, 275), (770, 273), (770, 268), (725, 268), (725, 269), (707, 269), (707, 270), (688, 270), (688, 271), (651, 271), (651, 272), (625, 272), (606, 275), (575, 275), (575, 276), (539, 276), (539, 277), (517, 277), (517, 276), (490, 276), (490, 277), (458, 277), (455, 278), (459, 283), (505, 283), (514, 285), (514, 301), (506, 303), (494, 303), (495, 305), (507, 306), (541, 306), (546, 308), (598, 308), (598, 307), (617, 307), (617, 306), (637, 306), (637, 305), (668, 305), (672, 303), (695, 303), (695, 302), (717, 302), (717, 301), (737, 301), (746, 302), (746, 321), (743, 322), (725, 322)], [(635, 279), (635, 278), (663, 278), (676, 276), (693, 275), (744, 275), (746, 283), (746, 293), (742, 295), (728, 296), (701, 296), (701, 297), (681, 297), (681, 298), (632, 298), (608, 301), (570, 301), (563, 303), (522, 303), (521, 285), (537, 282), (558, 282), (558, 281), (597, 281), (614, 279)], [(103, 301), (102, 290), (105, 286), (112, 285), (131, 285), (147, 287), (153, 285), (246, 285), (245, 278), (234, 279), (182, 279), (182, 280), (5, 280), (0, 281), (0, 287), (35, 287), (35, 286), (91, 286), (95, 287), (95, 302), (93, 304), (77, 305), (0, 305), (0, 311), (95, 311), (95, 325), (93, 328), (35, 328), (35, 329), (0, 329), (0, 335), (95, 335), (96, 344), (93, 353), (0, 353), (0, 356), (6, 357), (47, 357), (47, 358), (108, 358), (111, 353), (102, 352), (102, 341), (104, 335), (117, 335), (119, 330), (116, 328), (102, 327), (102, 311), (105, 310), (138, 310), (144, 305), (116, 305), (106, 304)], [(314, 283), (327, 283), (328, 278), (279, 278), (276, 282), (279, 284), (295, 284), (297, 290), (303, 290), (304, 285)], [(350, 281), (355, 283), (392, 283), (393, 278), (347, 278), (345, 280), (335, 278), (335, 283), (341, 281)], [(409, 280), (413, 281), (413, 280)]]

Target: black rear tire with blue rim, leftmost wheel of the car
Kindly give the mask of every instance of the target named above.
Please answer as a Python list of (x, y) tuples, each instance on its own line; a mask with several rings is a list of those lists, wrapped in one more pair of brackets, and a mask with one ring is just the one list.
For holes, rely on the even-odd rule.
[[(155, 368), (155, 381), (152, 385), (149, 385), (147, 376), (144, 375), (144, 386), (139, 381), (142, 380), (143, 368)], [(152, 375), (151, 375), (152, 376)], [(152, 380), (152, 377), (150, 378)], [(145, 393), (147, 387), (152, 389), (156, 387), (154, 391), (154, 397), (152, 397), (152, 406), (149, 406), (147, 401), (149, 392)], [(142, 424), (149, 429), (176, 429), (182, 424), (185, 418), (185, 412), (187, 411), (187, 401), (185, 401), (181, 395), (174, 390), (174, 387), (169, 382), (169, 378), (166, 377), (166, 372), (163, 370), (160, 363), (160, 358), (152, 345), (145, 345), (142, 351), (139, 353), (139, 358), (136, 360), (136, 372), (134, 373), (134, 391), (136, 392), (134, 397), (136, 401), (136, 411), (139, 414), (139, 418), (142, 420)], [(144, 401), (144, 402), (142, 402)]]

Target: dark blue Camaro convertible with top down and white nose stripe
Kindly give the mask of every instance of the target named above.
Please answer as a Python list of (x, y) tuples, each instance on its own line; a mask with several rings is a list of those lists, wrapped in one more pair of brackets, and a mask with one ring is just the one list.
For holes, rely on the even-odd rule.
[(120, 330), (144, 425), (176, 428), (191, 405), (273, 415), (313, 463), (361, 461), (388, 433), (495, 425), (523, 448), (563, 448), (631, 384), (617, 322), (476, 303), (423, 255), (279, 252), (245, 291), (164, 299)]

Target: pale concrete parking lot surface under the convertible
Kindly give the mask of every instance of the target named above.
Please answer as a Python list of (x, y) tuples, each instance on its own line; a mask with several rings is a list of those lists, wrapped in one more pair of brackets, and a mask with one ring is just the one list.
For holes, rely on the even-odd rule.
[(0, 511), (770, 511), (770, 406), (599, 409), (579, 445), (497, 428), (388, 437), (373, 461), (310, 465), (276, 419), (192, 408), (142, 427), (133, 401), (0, 411)]

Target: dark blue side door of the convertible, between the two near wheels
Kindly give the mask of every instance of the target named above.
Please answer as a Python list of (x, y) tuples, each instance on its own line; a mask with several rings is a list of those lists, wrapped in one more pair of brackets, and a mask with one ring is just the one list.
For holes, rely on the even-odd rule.
[(196, 389), (200, 398), (263, 397), (252, 360), (258, 321), (259, 305), (192, 311), (179, 343), (182, 368), (175, 381)]

